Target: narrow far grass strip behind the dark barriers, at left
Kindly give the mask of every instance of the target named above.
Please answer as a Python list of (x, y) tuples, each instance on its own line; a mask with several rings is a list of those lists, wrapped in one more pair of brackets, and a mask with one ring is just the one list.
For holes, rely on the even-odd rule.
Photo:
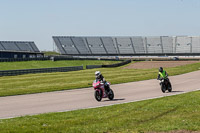
[(0, 70), (17, 70), (17, 69), (36, 69), (51, 67), (68, 67), (86, 65), (107, 65), (115, 64), (120, 61), (101, 61), (101, 60), (66, 60), (66, 61), (20, 61), (20, 62), (0, 62)]

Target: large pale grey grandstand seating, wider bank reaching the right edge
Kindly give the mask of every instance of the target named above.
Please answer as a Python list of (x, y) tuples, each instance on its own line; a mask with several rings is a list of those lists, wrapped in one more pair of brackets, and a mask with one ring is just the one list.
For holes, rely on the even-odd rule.
[(61, 54), (200, 53), (200, 36), (71, 37), (54, 36)]

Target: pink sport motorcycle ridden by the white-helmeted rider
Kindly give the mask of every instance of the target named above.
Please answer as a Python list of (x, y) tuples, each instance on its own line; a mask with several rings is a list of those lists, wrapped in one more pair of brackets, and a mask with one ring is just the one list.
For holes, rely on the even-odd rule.
[(110, 83), (106, 82), (106, 84), (109, 87), (109, 92), (105, 90), (104, 83), (99, 80), (94, 80), (93, 82), (93, 88), (95, 90), (94, 97), (98, 102), (101, 101), (102, 98), (108, 98), (110, 100), (113, 100), (114, 98), (114, 92), (110, 88)]

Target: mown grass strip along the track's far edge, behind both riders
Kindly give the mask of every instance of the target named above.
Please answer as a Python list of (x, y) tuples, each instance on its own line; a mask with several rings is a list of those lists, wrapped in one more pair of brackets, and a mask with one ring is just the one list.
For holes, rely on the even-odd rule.
[[(101, 68), (73, 72), (28, 74), (0, 77), (0, 96), (31, 94), (91, 87), (94, 73), (100, 70), (111, 84), (157, 78), (158, 69)], [(199, 70), (200, 63), (167, 68), (168, 74), (178, 75)]]

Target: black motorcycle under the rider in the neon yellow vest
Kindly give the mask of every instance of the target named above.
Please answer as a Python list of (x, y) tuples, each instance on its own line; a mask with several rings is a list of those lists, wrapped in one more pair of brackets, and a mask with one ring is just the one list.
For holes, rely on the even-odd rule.
[(168, 92), (172, 91), (171, 83), (169, 82), (169, 79), (167, 78), (162, 78), (160, 80), (160, 86), (161, 86), (161, 91), (163, 93), (165, 93), (166, 90), (168, 90)]

